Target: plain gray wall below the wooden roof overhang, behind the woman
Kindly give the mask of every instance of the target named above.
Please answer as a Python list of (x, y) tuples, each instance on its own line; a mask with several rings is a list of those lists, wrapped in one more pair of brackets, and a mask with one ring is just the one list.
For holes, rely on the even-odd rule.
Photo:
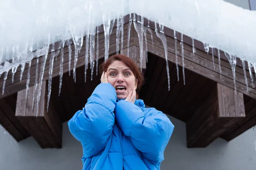
[[(250, 129), (233, 141), (217, 139), (207, 148), (186, 148), (185, 123), (170, 117), (174, 133), (161, 170), (255, 170), (256, 150)], [(30, 137), (17, 143), (0, 127), (0, 170), (81, 170), (81, 145), (63, 128), (62, 149), (41, 149)]]

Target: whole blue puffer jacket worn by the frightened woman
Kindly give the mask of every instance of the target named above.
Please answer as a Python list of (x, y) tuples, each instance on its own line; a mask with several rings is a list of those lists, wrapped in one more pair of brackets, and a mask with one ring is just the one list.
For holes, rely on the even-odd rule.
[(68, 126), (83, 147), (83, 170), (159, 170), (174, 129), (142, 100), (118, 100), (109, 83), (96, 87)]

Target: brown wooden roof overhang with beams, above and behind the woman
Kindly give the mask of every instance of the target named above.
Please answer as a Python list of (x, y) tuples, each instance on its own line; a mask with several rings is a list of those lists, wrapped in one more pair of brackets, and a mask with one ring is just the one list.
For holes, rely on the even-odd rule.
[[(151, 27), (151, 29), (154, 26)], [(248, 91), (244, 81), (244, 71), (241, 61), (236, 66), (236, 87), (238, 95), (234, 95), (233, 73), (230, 63), (221, 52), (221, 71), (218, 70), (218, 58), (215, 56), (215, 69), (212, 63), (212, 55), (202, 51), (202, 43), (195, 41), (197, 52), (192, 53), (191, 38), (184, 36), (184, 67), (186, 85), (183, 85), (182, 58), (180, 47), (180, 35), (177, 34), (177, 54), (180, 81), (177, 81), (175, 66), (175, 40), (171, 29), (166, 30), (168, 46), (168, 61), (170, 72), (170, 91), (168, 91), (165, 52), (161, 40), (153, 32), (152, 46), (151, 36), (147, 34), (148, 62), (143, 60), (143, 72), (145, 84), (140, 90), (140, 98), (145, 104), (186, 122), (187, 146), (206, 147), (216, 138), (221, 137), (227, 141), (232, 140), (247, 129), (256, 124), (256, 88), (249, 82)], [(116, 52), (116, 28), (110, 37), (109, 54)], [(130, 44), (127, 44), (128, 23), (124, 25), (123, 54), (127, 55), (130, 48), (130, 56), (134, 55), (134, 61), (140, 66), (139, 38), (134, 27), (131, 27)], [(84, 37), (85, 42), (85, 37)], [(45, 92), (41, 98), (44, 105), (42, 112), (35, 116), (33, 111), (22, 112), (19, 108), (26, 104), (20, 96), (24, 95), (26, 89), (28, 66), (25, 66), (23, 78), (20, 81), (20, 68), (12, 83), (11, 72), (6, 80), (5, 93), (0, 95), (0, 123), (17, 140), (23, 140), (32, 135), (42, 148), (61, 147), (61, 122), (69, 120), (73, 114), (84, 107), (87, 98), (93, 89), (99, 84), (99, 75), (96, 68), (93, 73), (93, 81), (90, 81), (90, 69), (87, 71), (87, 81), (84, 81), (84, 52), (83, 44), (78, 56), (76, 83), (73, 76), (69, 76), (68, 69), (68, 47), (64, 48), (63, 82), (61, 95), (58, 97), (60, 55), (53, 65), (52, 93), (50, 109), (45, 111), (45, 98), (47, 98), (47, 79), (49, 78), (49, 58), (44, 71)], [(72, 56), (74, 56), (74, 45), (72, 45)], [(145, 43), (143, 43), (145, 55)], [(99, 63), (104, 60), (104, 32), (99, 34)], [(41, 58), (40, 58), (41, 61)], [(73, 66), (73, 61), (71, 65)], [(39, 68), (40, 68), (39, 62)], [(240, 65), (240, 66), (239, 66)], [(32, 60), (30, 67), (30, 86), (35, 83), (36, 61)], [(247, 70), (247, 79), (250, 75)], [(0, 78), (0, 91), (3, 87), (3, 76)], [(223, 95), (224, 94), (224, 95)], [(227, 98), (227, 96), (230, 96)], [(222, 100), (223, 102), (219, 102)], [(20, 104), (20, 102), (23, 104)], [(211, 108), (211, 109), (209, 109)], [(24, 110), (23, 110), (24, 111)], [(15, 113), (16, 112), (16, 113)], [(55, 124), (55, 122), (58, 122)], [(55, 125), (53, 125), (55, 124)]]

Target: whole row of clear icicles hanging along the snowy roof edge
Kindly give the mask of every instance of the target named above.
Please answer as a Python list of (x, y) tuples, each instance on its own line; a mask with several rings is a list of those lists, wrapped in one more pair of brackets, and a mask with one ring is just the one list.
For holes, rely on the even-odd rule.
[[(93, 23), (93, 20), (92, 20)], [(104, 35), (105, 35), (105, 60), (108, 59), (109, 55), (109, 43), (110, 43), (110, 35), (113, 31), (113, 26), (114, 26), (115, 20), (111, 20), (110, 18), (106, 18), (103, 16), (103, 27), (104, 27)], [(137, 16), (137, 21), (136, 21), (136, 15), (135, 14), (130, 14), (130, 19), (129, 19), (129, 25), (128, 25), (128, 44), (130, 44), (130, 31), (131, 31), (131, 25), (132, 23), (134, 24), (134, 28), (138, 34), (139, 37), (139, 44), (140, 44), (140, 64), (142, 65), (143, 61), (143, 42), (144, 42), (144, 37), (145, 37), (145, 50), (146, 50), (146, 61), (148, 61), (147, 57), (147, 32), (150, 33), (151, 35), (151, 41), (152, 41), (152, 46), (153, 46), (153, 51), (154, 51), (154, 42), (153, 42), (153, 35), (152, 35), (152, 30), (149, 26), (149, 20), (148, 20), (148, 26), (144, 26), (142, 23), (144, 23), (144, 18)], [(169, 75), (169, 64), (168, 64), (168, 50), (167, 50), (167, 41), (166, 41), (166, 35), (164, 34), (164, 26), (163, 24), (159, 23), (159, 31), (157, 29), (157, 22), (155, 21), (155, 33), (157, 37), (160, 38), (160, 40), (163, 43), (164, 51), (165, 51), (165, 59), (166, 59), (166, 72), (167, 72), (167, 78), (168, 78), (168, 89), (170, 90), (170, 75)], [(123, 39), (124, 39), (124, 20), (123, 17), (119, 17), (116, 19), (116, 53), (118, 54), (119, 51), (122, 54), (122, 49), (123, 49)], [(70, 27), (71, 28), (71, 27)], [(99, 65), (99, 30), (100, 26), (97, 26), (96, 28), (87, 28), (86, 29), (86, 38), (85, 39), (85, 81), (86, 81), (86, 76), (87, 76), (87, 69), (90, 61), (90, 69), (91, 69), (91, 80), (92, 80), (92, 75), (93, 75), (93, 69), (94, 66), (96, 65), (96, 75), (98, 75), (98, 65)], [(74, 56), (74, 66), (73, 66), (73, 79), (76, 82), (76, 64), (78, 61), (78, 55), (80, 53), (81, 47), (83, 45), (83, 32), (77, 32), (75, 29), (70, 29), (70, 32), (72, 33), (72, 38), (71, 39), (65, 39), (64, 35), (61, 37), (61, 41), (58, 42), (58, 48), (55, 50), (55, 43), (52, 43), (52, 47), (50, 50), (50, 62), (49, 62), (49, 79), (48, 79), (48, 94), (47, 94), (47, 111), (49, 107), (49, 99), (50, 99), (50, 94), (51, 94), (51, 86), (52, 86), (52, 70), (53, 70), (53, 63), (54, 59), (56, 60), (56, 57), (58, 56), (59, 52), (61, 53), (60, 55), (60, 71), (59, 71), (59, 76), (60, 76), (60, 83), (59, 83), (59, 95), (61, 93), (61, 84), (62, 84), (62, 76), (63, 76), (63, 61), (64, 61), (64, 46), (67, 44), (68, 46), (68, 51), (69, 51), (69, 75), (70, 75), (70, 70), (71, 70), (71, 60), (72, 60), (72, 48), (71, 44), (74, 43), (75, 46), (75, 56)], [(95, 36), (96, 36), (96, 57), (95, 57)], [(120, 40), (121, 36), (121, 40)], [(54, 39), (54, 37), (53, 37)], [(174, 30), (174, 39), (175, 39), (175, 60), (176, 60), (176, 69), (177, 69), (177, 81), (179, 81), (179, 68), (178, 68), (178, 52), (177, 52), (177, 36), (176, 32)], [(121, 41), (121, 49), (119, 50), (119, 42)], [(36, 73), (35, 73), (35, 84), (34, 84), (34, 92), (33, 92), (33, 101), (32, 103), (34, 104), (34, 101), (36, 100), (36, 109), (37, 109), (37, 115), (38, 115), (38, 105), (39, 105), (39, 100), (40, 100), (40, 95), (41, 95), (41, 86), (43, 83), (43, 76), (44, 76), (44, 69), (48, 57), (48, 52), (49, 52), (49, 42), (50, 42), (50, 34), (47, 35), (47, 38), (45, 40), (44, 46), (41, 49), (38, 49), (36, 52), (32, 52), (32, 46), (28, 47), (28, 60), (23, 63), (9, 63), (9, 61), (6, 61), (4, 64), (5, 65), (12, 65), (12, 82), (14, 81), (14, 75), (17, 70), (17, 67), (21, 65), (21, 72), (20, 72), (20, 81), (22, 80), (22, 75), (23, 75), (23, 70), (25, 68), (25, 64), (28, 63), (28, 73), (27, 73), (27, 81), (26, 81), (26, 96), (29, 93), (29, 81), (30, 81), (30, 66), (31, 66), (31, 61), (33, 58), (36, 58)], [(181, 57), (182, 57), (182, 71), (183, 71), (183, 82), (185, 84), (185, 74), (184, 74), (184, 49), (183, 49), (183, 34), (181, 34), (180, 38), (180, 46), (181, 46)], [(210, 46), (207, 43), (204, 43), (204, 49), (205, 52), (209, 52)], [(13, 48), (13, 57), (12, 61), (19, 62), (19, 58), (17, 58), (17, 47)], [(221, 77), (221, 59), (220, 59), (220, 50), (217, 49), (217, 52), (215, 52), (214, 48), (211, 48), (212, 50), (212, 62), (213, 62), (213, 67), (215, 69), (215, 64), (214, 64), (214, 55), (215, 53), (218, 54), (218, 63), (219, 63), (219, 72), (220, 72), (220, 77)], [(3, 51), (3, 50), (2, 50)], [(8, 54), (8, 48), (6, 48), (6, 54)], [(192, 52), (193, 55), (195, 55), (196, 49), (194, 46), (194, 39), (192, 38)], [(2, 52), (3, 54), (3, 52)], [(128, 52), (129, 54), (129, 48)], [(15, 56), (17, 55), (17, 56)], [(235, 67), (236, 67), (236, 56), (233, 56), (231, 54), (225, 53), (228, 61), (230, 62), (232, 72), (233, 72), (233, 81), (234, 81), (234, 86), (236, 90), (236, 75), (235, 75)], [(3, 55), (2, 55), (3, 56)], [(42, 57), (41, 61), (41, 68), (40, 68), (40, 74), (38, 75), (38, 64), (39, 64), (39, 57)], [(0, 58), (1, 59), (1, 58)], [(96, 63), (95, 63), (96, 61)], [(247, 91), (248, 91), (248, 81), (247, 81), (247, 76), (246, 76), (246, 68), (245, 68), (245, 60), (242, 58), (241, 59), (242, 64), (243, 64), (243, 69), (244, 69), (244, 79), (245, 83), (247, 86)], [(15, 65), (16, 64), (16, 65)], [(3, 67), (3, 66), (2, 66)], [(10, 68), (10, 67), (9, 67)], [(140, 66), (142, 68), (142, 66)], [(256, 72), (256, 66), (253, 66), (252, 63), (248, 62), (248, 68), (250, 72), (250, 78), (251, 82), (253, 84), (253, 72), (252, 69), (254, 68)], [(0, 67), (1, 71), (1, 67)], [(4, 88), (5, 88), (5, 83), (7, 79), (9, 70), (4, 71), (4, 81), (3, 81), (3, 91), (2, 94), (4, 94)], [(0, 72), (1, 74), (3, 72)], [(37, 96), (35, 96), (35, 92), (38, 91)], [(254, 129), (253, 129), (254, 130)], [(256, 141), (255, 141), (256, 142)]]

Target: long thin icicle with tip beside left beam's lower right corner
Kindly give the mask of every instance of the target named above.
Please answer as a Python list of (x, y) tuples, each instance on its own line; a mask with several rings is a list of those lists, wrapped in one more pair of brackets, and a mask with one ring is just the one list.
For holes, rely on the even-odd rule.
[(50, 56), (50, 63), (49, 63), (49, 79), (48, 79), (48, 95), (47, 95), (47, 112), (49, 108), (49, 101), (52, 91), (52, 69), (53, 69), (53, 62), (55, 58), (55, 48), (54, 43), (52, 43), (52, 49), (51, 49), (51, 56)]

